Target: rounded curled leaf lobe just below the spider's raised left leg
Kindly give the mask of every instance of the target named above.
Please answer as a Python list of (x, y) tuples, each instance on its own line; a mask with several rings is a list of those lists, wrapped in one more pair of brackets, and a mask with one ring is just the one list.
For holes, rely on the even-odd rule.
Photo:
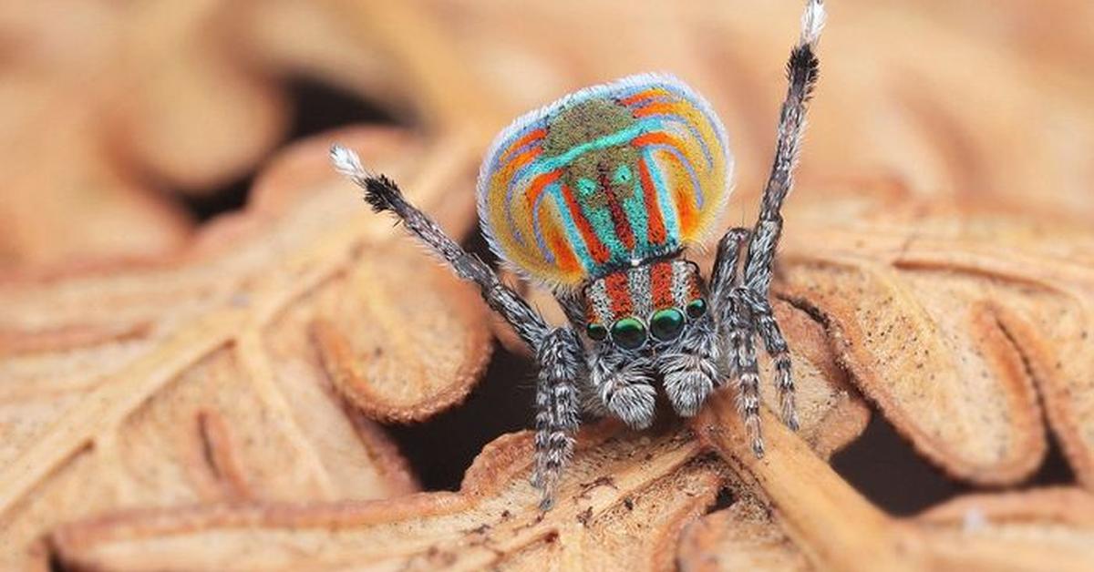
[(403, 243), (362, 258), (345, 277), (357, 295), (333, 296), (336, 311), (313, 324), (335, 386), (373, 419), (421, 420), (463, 400), (490, 358), (477, 292), (453, 288), (440, 264), (422, 268), (422, 256)]

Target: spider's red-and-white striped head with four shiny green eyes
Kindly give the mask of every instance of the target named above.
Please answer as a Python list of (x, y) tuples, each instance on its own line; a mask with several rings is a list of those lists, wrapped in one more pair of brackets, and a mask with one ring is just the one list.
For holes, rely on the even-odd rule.
[(585, 300), (585, 335), (628, 352), (675, 342), (708, 305), (698, 267), (683, 259), (609, 273), (589, 284)]

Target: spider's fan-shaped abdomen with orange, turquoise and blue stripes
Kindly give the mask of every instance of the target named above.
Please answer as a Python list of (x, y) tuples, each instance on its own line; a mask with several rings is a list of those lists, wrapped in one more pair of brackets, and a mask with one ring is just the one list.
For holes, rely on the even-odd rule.
[(667, 75), (635, 75), (505, 129), (479, 173), (479, 220), (525, 276), (573, 287), (701, 240), (732, 167), (702, 97)]

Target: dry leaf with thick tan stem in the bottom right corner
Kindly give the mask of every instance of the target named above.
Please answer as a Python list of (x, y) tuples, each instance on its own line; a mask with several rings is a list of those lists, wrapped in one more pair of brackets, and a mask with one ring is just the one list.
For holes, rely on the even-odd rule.
[[(975, 494), (900, 520), (871, 505), (766, 411), (768, 454), (749, 444), (732, 399), (714, 396), (693, 425), (748, 489), (685, 530), (688, 570), (1084, 570), (1091, 503), (1079, 489)], [(804, 560), (803, 560), (804, 557)]]

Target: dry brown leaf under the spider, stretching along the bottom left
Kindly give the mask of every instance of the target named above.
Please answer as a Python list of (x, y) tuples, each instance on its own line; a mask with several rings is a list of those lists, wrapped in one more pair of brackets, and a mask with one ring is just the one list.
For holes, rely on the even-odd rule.
[[(779, 312), (793, 341), (802, 433), (827, 454), (858, 435), (866, 410), (840, 377), (827, 376), (838, 370), (818, 326), (784, 304)], [(458, 493), (129, 512), (67, 526), (54, 544), (67, 563), (107, 570), (671, 570), (683, 526), (721, 488), (741, 488), (678, 425), (586, 430), (545, 514), (528, 483), (531, 434), (517, 433), (484, 450)]]

